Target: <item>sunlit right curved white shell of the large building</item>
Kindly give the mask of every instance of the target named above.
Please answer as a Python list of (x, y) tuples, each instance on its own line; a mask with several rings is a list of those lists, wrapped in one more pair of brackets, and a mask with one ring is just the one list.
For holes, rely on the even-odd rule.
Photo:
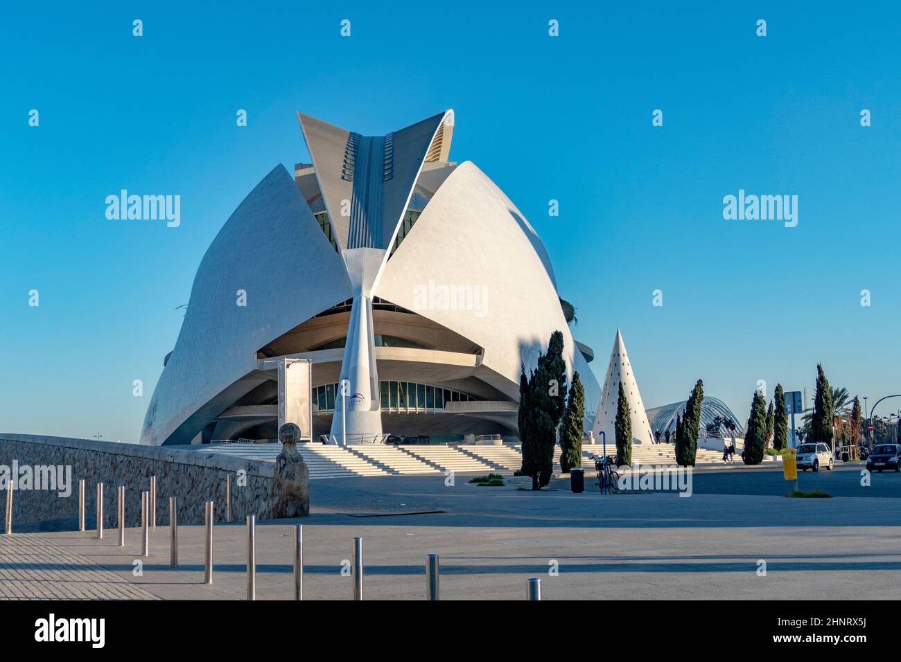
[[(562, 331), (568, 377), (576, 365), (587, 394), (596, 397), (596, 380), (576, 348), (551, 274), (541, 240), (523, 214), (466, 161), (388, 260), (375, 294), (478, 343), (485, 349), (482, 365), (497, 373), (493, 385), (510, 397), (518, 397), (521, 364), (535, 367), (551, 333)], [(484, 310), (423, 309), (417, 288), (430, 281), (481, 288)]]

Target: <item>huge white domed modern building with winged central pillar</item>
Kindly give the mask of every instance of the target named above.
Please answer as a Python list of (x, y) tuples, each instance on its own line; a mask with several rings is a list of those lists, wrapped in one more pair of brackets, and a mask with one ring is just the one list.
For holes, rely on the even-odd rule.
[(597, 402), (542, 240), (449, 160), (453, 117), (363, 136), (298, 113), (313, 162), (274, 168), (207, 249), (141, 443), (276, 439), (281, 358), (312, 361), (315, 435), (341, 435), (342, 380), (350, 443), (515, 433), (555, 330)]

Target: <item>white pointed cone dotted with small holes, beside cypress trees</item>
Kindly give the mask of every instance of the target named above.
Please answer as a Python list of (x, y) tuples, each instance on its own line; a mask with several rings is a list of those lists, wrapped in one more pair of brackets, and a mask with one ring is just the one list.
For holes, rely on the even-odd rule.
[[(593, 428), (595, 443), (603, 441), (601, 432), (604, 432), (608, 449), (611, 445), (614, 449), (616, 447), (616, 404), (619, 400), (620, 382), (623, 382), (623, 391), (629, 402), (629, 413), (632, 416), (633, 444), (653, 443), (651, 423), (648, 422), (648, 414), (644, 411), (642, 394), (638, 392), (638, 382), (635, 381), (629, 355), (625, 352), (623, 334), (617, 329), (614, 349), (610, 352), (610, 364), (607, 366), (607, 374), (604, 376), (604, 388), (601, 389), (601, 401), (597, 404)], [(608, 450), (608, 454), (609, 452)]]

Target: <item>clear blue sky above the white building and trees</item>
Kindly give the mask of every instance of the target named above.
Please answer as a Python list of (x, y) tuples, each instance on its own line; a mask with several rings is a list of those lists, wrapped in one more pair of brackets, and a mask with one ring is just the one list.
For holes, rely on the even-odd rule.
[[(685, 5), (5, 5), (0, 431), (137, 440), (206, 247), (308, 160), (297, 110), (382, 134), (452, 107), (451, 159), (542, 236), (596, 374), (623, 330), (649, 407), (700, 377), (743, 420), (821, 361), (901, 392), (901, 10)], [(181, 225), (108, 221), (122, 188), (181, 195)], [(740, 188), (797, 195), (797, 227), (725, 221)]]

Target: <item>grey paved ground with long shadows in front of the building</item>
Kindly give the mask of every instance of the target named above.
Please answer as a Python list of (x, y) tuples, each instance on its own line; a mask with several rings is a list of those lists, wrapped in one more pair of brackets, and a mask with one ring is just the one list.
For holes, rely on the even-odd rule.
[[(478, 487), (469, 476), (374, 476), (319, 480), (311, 516), (259, 522), (257, 598), (292, 597), (291, 524), (305, 535), (306, 600), (350, 599), (341, 575), (351, 540), (364, 539), (367, 599), (422, 599), (424, 562), (441, 556), (441, 599), (522, 599), (542, 577), (557, 599), (887, 599), (901, 570), (901, 475), (860, 467), (802, 474), (802, 489), (831, 499), (787, 499), (775, 468), (698, 471), (690, 498), (675, 493), (572, 494), (555, 479), (540, 493)], [(201, 503), (197, 504), (202, 507)], [(159, 517), (165, 517), (160, 507)], [(203, 585), (203, 527), (179, 528), (180, 565), (170, 570), (168, 526), (150, 535), (142, 575), (139, 531), (126, 546), (108, 531), (0, 536), (5, 598), (243, 599), (243, 522), (217, 524), (214, 585)], [(759, 574), (766, 562), (766, 575)], [(554, 567), (559, 573), (551, 574)]]

